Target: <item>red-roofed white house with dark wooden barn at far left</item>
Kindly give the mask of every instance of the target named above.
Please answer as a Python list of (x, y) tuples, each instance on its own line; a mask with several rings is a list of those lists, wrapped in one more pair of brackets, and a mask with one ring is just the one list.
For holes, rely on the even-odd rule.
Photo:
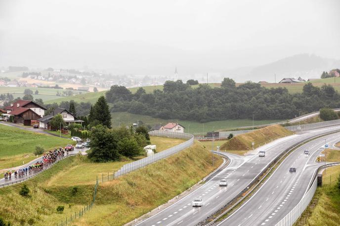
[(13, 122), (31, 125), (31, 120), (37, 120), (45, 114), (45, 108), (33, 101), (18, 100), (4, 108), (8, 115), (13, 116)]

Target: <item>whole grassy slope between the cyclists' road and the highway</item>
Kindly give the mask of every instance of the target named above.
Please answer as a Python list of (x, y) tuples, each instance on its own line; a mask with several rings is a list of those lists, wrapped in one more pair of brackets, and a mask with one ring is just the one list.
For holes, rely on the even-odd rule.
[[(221, 162), (217, 157), (213, 167), (211, 153), (196, 143), (155, 164), (100, 184), (94, 208), (73, 225), (123, 225), (190, 188)], [(90, 201), (95, 175), (90, 178), (86, 172), (93, 174), (102, 169), (105, 173), (124, 163), (91, 163), (85, 156), (66, 158), (24, 182), (31, 189), (30, 198), (19, 195), (22, 184), (1, 188), (0, 216), (13, 225), (31, 218), (37, 226), (59, 223)], [(70, 174), (75, 174), (72, 180)], [(72, 193), (74, 187), (78, 188), (76, 193)], [(63, 214), (56, 212), (58, 205), (65, 206)]]

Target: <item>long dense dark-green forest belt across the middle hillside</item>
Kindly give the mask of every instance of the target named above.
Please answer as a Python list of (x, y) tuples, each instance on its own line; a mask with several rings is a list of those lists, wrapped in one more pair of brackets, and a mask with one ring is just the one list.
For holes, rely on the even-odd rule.
[(112, 86), (106, 99), (112, 112), (129, 112), (165, 119), (178, 118), (207, 122), (225, 119), (288, 119), (319, 109), (339, 108), (340, 95), (331, 85), (321, 88), (306, 83), (302, 93), (290, 94), (286, 88), (264, 88), (246, 82), (236, 87), (224, 78), (220, 88), (199, 84), (198, 88), (181, 80), (166, 81), (162, 90), (146, 93), (139, 88), (132, 94), (124, 86)]

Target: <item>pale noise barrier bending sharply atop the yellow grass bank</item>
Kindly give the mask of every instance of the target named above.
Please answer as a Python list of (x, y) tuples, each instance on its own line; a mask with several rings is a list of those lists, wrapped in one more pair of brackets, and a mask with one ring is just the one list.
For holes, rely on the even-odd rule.
[(163, 158), (169, 157), (170, 155), (177, 153), (178, 151), (182, 151), (188, 147), (190, 147), (192, 144), (194, 144), (194, 136), (192, 134), (187, 133), (177, 133), (177, 132), (165, 132), (165, 131), (151, 131), (149, 132), (151, 136), (158, 136), (158, 137), (170, 137), (170, 138), (179, 138), (179, 139), (186, 139), (187, 141), (176, 145), (170, 149), (167, 149), (165, 151), (161, 151), (159, 153), (156, 153), (154, 155), (142, 158), (140, 160), (130, 162), (128, 164), (125, 164), (122, 166), (115, 174), (114, 177), (117, 178), (119, 176), (122, 176), (124, 174), (127, 174), (131, 171), (134, 171), (136, 169), (140, 169), (146, 165), (149, 165), (151, 163), (157, 162), (158, 160), (161, 160)]

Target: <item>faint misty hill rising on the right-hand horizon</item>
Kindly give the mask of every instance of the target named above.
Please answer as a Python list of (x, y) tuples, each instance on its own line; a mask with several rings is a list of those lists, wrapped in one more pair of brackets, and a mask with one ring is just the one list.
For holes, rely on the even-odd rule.
[(276, 82), (284, 77), (320, 78), (323, 71), (339, 67), (340, 60), (299, 54), (255, 67), (249, 71), (249, 74), (238, 76), (238, 80), (251, 78), (253, 81), (274, 82), (274, 74), (276, 74)]

